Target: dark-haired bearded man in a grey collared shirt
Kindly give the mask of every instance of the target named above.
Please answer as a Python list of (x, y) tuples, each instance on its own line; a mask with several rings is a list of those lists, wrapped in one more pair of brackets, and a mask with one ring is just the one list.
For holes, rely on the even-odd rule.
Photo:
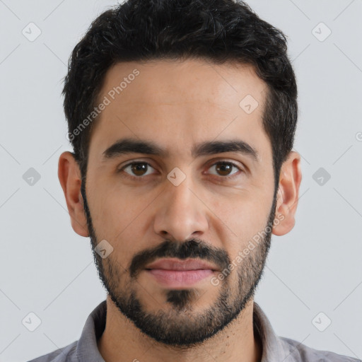
[(129, 0), (93, 21), (63, 93), (59, 180), (107, 300), (33, 361), (358, 361), (277, 337), (254, 302), (301, 181), (279, 30), (241, 1)]

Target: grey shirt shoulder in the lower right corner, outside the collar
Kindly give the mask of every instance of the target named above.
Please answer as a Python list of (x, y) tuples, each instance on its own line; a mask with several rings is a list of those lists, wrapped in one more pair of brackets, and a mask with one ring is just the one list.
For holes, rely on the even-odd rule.
[(319, 349), (313, 349), (300, 343), (294, 339), (286, 337), (279, 337), (281, 343), (286, 349), (286, 354), (291, 358), (286, 361), (298, 361), (298, 362), (362, 362), (358, 358), (352, 358), (341, 354), (336, 354), (332, 351), (321, 351)]

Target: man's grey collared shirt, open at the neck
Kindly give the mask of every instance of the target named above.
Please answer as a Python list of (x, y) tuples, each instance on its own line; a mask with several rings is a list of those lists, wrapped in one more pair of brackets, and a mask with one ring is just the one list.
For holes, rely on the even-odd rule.
[[(105, 362), (97, 347), (97, 340), (105, 329), (107, 313), (103, 300), (88, 316), (81, 338), (62, 349), (40, 356), (28, 362)], [(254, 330), (262, 339), (261, 362), (362, 362), (360, 359), (342, 356), (330, 351), (320, 351), (293, 339), (278, 337), (264, 314), (254, 302)]]

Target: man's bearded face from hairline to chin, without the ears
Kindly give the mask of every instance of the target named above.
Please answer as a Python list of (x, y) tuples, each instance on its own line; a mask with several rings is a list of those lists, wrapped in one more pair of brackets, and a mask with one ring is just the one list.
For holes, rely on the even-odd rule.
[[(139, 75), (127, 78), (134, 69)], [(127, 86), (117, 95), (112, 90), (124, 77)], [(265, 83), (245, 65), (129, 62), (107, 72), (99, 100), (110, 103), (89, 148), (88, 230), (110, 298), (153, 339), (198, 344), (252, 300), (275, 209), (271, 143), (262, 128), (266, 93)], [(105, 157), (107, 148), (126, 138), (152, 142), (165, 154), (113, 147)], [(246, 148), (197, 152), (195, 146), (229, 141)], [(250, 244), (258, 233), (262, 240)], [(101, 240), (113, 247), (105, 259), (94, 251)], [(163, 258), (199, 259), (214, 271), (191, 283), (147, 270)]]

